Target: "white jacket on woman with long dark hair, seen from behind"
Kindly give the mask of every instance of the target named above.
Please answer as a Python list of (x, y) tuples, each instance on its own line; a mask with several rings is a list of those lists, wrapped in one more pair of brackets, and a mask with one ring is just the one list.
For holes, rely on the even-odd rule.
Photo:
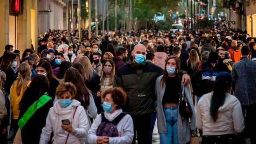
[(226, 93), (226, 99), (218, 109), (218, 119), (213, 122), (210, 115), (212, 93), (204, 94), (196, 111), (196, 127), (203, 130), (203, 136), (240, 133), (244, 129), (244, 117), (239, 100)]

